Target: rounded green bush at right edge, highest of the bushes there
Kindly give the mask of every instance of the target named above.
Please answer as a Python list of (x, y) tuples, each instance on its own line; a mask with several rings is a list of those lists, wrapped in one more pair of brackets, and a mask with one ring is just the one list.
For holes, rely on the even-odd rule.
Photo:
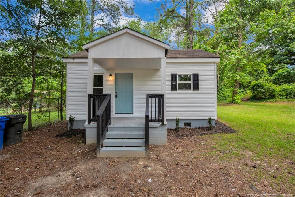
[(276, 85), (295, 83), (295, 70), (282, 68), (272, 76), (272, 82)]

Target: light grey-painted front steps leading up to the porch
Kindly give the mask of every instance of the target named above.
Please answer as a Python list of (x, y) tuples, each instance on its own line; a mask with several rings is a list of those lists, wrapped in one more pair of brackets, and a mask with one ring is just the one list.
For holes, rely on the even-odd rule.
[(109, 125), (101, 157), (145, 157), (145, 126), (143, 124)]

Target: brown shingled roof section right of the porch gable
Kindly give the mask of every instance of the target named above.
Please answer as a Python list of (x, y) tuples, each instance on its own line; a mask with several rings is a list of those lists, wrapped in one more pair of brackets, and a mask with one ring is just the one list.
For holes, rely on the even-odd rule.
[(201, 49), (169, 50), (166, 58), (219, 58)]

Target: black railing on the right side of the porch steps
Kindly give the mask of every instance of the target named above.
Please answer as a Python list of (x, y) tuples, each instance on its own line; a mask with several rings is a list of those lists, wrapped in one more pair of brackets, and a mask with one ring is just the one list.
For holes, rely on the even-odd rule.
[(147, 94), (146, 106), (145, 106), (145, 156), (148, 156), (148, 148), (149, 148), (149, 123), (161, 122), (161, 124), (164, 125), (165, 124), (164, 113), (165, 113), (164, 94)]

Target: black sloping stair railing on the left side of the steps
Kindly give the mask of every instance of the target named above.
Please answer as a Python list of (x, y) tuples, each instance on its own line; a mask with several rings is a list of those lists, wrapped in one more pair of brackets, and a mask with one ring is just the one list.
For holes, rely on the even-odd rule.
[(111, 95), (106, 95), (96, 113), (96, 157), (100, 156), (102, 141), (111, 124)]

